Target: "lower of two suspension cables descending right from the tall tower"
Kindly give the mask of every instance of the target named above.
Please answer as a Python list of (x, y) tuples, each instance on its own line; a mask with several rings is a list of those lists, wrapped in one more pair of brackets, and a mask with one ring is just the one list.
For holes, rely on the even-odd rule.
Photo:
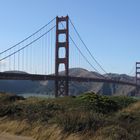
[[(61, 23), (61, 24), (62, 24), (63, 28), (65, 29), (63, 23)], [(69, 37), (70, 37), (71, 41), (73, 42), (73, 44), (75, 45), (75, 47), (77, 48), (77, 50), (79, 51), (79, 53), (83, 56), (83, 58), (85, 59), (85, 61), (100, 75), (100, 77), (106, 79), (107, 77), (105, 77), (104, 75), (100, 74), (100, 72), (89, 62), (89, 60), (87, 59), (87, 57), (82, 53), (82, 51), (79, 49), (79, 47), (77, 46), (77, 44), (75, 43), (75, 41), (72, 39), (70, 33), (69, 33)]]

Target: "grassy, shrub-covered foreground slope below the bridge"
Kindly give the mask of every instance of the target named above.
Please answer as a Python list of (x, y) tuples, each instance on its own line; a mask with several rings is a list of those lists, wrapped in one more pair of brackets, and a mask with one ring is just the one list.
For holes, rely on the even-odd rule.
[(0, 132), (36, 140), (139, 140), (140, 101), (94, 93), (57, 99), (0, 94)]

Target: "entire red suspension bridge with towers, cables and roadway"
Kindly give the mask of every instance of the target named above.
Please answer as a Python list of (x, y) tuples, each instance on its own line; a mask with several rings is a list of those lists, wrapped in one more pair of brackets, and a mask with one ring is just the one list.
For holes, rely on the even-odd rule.
[[(75, 32), (74, 37), (80, 40), (83, 48), (80, 43), (75, 42), (70, 26)], [(0, 66), (0, 80), (54, 80), (56, 97), (69, 95), (70, 81), (129, 85), (136, 87), (136, 94), (140, 87), (140, 62), (136, 62), (136, 82), (114, 80), (100, 74), (100, 71), (105, 74), (107, 72), (93, 56), (68, 16), (53, 18), (27, 38), (0, 52), (0, 62), (4, 65)], [(95, 68), (93, 62), (100, 71)], [(85, 67), (85, 65), (98, 75), (96, 77), (69, 75), (71, 67)]]

